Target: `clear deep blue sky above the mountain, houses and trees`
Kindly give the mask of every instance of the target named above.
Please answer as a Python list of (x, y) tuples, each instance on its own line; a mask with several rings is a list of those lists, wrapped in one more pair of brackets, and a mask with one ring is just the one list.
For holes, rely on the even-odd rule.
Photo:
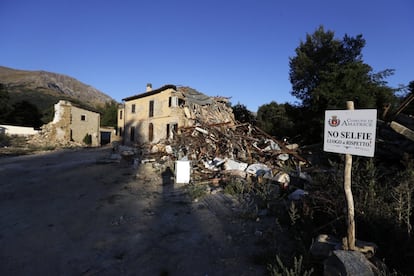
[(412, 0), (2, 0), (0, 65), (74, 77), (117, 101), (165, 84), (253, 112), (290, 95), (289, 57), (319, 25), (366, 39), (364, 61), (414, 80)]

